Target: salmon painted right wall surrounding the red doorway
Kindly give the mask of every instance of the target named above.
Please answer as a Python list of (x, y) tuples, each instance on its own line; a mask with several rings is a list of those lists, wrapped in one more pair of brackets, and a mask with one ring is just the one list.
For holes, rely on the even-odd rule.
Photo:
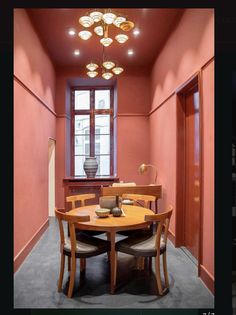
[[(214, 10), (187, 9), (157, 57), (151, 75), (150, 161), (163, 185), (161, 207), (175, 207), (175, 91), (202, 70), (203, 86), (203, 265), (214, 277)], [(210, 123), (208, 123), (210, 120)], [(209, 168), (209, 169), (208, 169)], [(170, 229), (175, 235), (175, 213)]]

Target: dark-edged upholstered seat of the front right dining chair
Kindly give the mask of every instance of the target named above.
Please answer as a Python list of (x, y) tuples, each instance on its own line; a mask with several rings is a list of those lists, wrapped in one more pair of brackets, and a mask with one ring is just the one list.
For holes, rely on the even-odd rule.
[[(155, 244), (155, 234), (148, 235), (142, 233), (130, 236), (124, 240), (117, 242), (116, 250), (133, 256), (154, 257), (157, 255)], [(165, 250), (166, 246), (163, 239), (161, 238), (160, 253), (164, 253)]]

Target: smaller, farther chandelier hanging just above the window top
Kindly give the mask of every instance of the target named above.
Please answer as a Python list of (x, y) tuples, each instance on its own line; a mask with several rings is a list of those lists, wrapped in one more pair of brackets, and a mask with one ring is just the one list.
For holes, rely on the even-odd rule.
[(105, 57), (104, 47), (102, 52), (102, 61), (97, 63), (91, 61), (86, 65), (86, 68), (88, 70), (87, 75), (90, 78), (95, 78), (100, 70), (102, 77), (106, 80), (112, 78), (114, 74), (119, 75), (124, 71), (117, 62), (111, 61), (109, 58)]

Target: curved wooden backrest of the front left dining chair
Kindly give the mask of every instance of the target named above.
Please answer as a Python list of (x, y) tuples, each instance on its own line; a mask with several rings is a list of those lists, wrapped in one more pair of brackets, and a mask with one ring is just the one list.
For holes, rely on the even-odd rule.
[(69, 224), (70, 229), (70, 240), (71, 240), (71, 252), (75, 251), (76, 234), (75, 228), (77, 222), (88, 222), (90, 220), (89, 215), (69, 215), (65, 212), (65, 209), (55, 208), (55, 216), (58, 220), (59, 231), (60, 231), (60, 249), (63, 251), (65, 244), (65, 234), (62, 221), (66, 221)]

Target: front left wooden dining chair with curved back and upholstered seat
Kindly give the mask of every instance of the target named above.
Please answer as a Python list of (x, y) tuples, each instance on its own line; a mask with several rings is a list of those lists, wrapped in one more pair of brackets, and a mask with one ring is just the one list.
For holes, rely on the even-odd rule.
[[(79, 239), (76, 239), (75, 227), (77, 225), (77, 222), (89, 221), (90, 217), (88, 215), (71, 216), (65, 213), (64, 209), (55, 209), (55, 215), (59, 223), (61, 252), (58, 292), (62, 290), (62, 282), (65, 269), (65, 256), (68, 256), (68, 258), (71, 260), (68, 297), (71, 298), (75, 281), (76, 258), (80, 259), (80, 272), (83, 272), (86, 269), (86, 258), (109, 252), (110, 242), (85, 234), (80, 234)], [(66, 221), (69, 224), (70, 237), (65, 237), (62, 221)]]

